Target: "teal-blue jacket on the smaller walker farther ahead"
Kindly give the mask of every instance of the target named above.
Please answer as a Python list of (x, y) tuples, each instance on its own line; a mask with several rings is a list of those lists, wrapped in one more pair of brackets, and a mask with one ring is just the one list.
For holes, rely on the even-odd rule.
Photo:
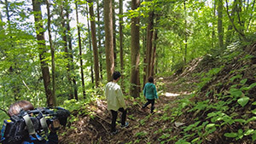
[(156, 88), (153, 83), (145, 84), (143, 93), (144, 93), (144, 96), (146, 96), (146, 99), (149, 99), (149, 100), (158, 99)]

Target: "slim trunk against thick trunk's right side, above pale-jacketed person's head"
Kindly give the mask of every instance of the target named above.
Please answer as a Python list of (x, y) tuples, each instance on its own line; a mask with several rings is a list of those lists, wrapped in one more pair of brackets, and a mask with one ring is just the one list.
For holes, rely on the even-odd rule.
[(115, 3), (112, 0), (112, 13), (113, 13), (113, 59), (114, 59), (114, 66), (117, 65), (116, 57), (117, 57), (117, 49), (116, 49), (116, 31), (115, 31)]

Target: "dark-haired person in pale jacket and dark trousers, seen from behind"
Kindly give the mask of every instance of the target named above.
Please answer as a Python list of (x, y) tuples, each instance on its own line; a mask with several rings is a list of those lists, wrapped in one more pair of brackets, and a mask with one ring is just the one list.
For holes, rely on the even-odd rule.
[(105, 95), (107, 97), (108, 103), (108, 111), (112, 113), (112, 123), (111, 123), (111, 135), (115, 135), (118, 133), (116, 130), (116, 119), (118, 116), (118, 111), (122, 112), (121, 116), (121, 128), (126, 128), (128, 123), (126, 120), (126, 104), (125, 99), (122, 93), (122, 89), (120, 88), (118, 81), (121, 78), (120, 72), (113, 72), (113, 81), (108, 82), (105, 88)]

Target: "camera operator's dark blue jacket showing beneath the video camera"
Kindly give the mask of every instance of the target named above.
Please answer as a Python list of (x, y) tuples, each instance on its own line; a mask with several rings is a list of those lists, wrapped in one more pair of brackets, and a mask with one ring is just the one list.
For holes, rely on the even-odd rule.
[(56, 133), (49, 133), (48, 141), (38, 141), (37, 138), (34, 138), (32, 135), (26, 141), (23, 141), (22, 144), (58, 144), (58, 135)]

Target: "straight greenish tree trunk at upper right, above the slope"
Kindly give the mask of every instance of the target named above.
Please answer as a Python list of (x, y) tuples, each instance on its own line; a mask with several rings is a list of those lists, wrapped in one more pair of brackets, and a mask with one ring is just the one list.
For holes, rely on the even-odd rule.
[(218, 0), (218, 46), (224, 49), (224, 32), (223, 32), (223, 0)]

